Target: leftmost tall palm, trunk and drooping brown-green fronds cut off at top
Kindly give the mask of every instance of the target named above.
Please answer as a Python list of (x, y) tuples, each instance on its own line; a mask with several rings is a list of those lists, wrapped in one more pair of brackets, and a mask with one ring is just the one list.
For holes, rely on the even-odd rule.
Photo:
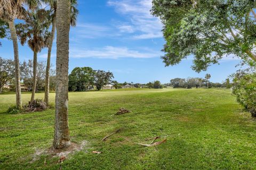
[(29, 8), (34, 8), (38, 5), (37, 0), (1, 0), (0, 1), (0, 19), (9, 24), (11, 39), (13, 43), (14, 65), (15, 65), (15, 91), (16, 105), (22, 107), (21, 89), (20, 89), (20, 66), (19, 66), (19, 49), (17, 33), (14, 25), (14, 19), (22, 19), (25, 9), (23, 3), (26, 3)]

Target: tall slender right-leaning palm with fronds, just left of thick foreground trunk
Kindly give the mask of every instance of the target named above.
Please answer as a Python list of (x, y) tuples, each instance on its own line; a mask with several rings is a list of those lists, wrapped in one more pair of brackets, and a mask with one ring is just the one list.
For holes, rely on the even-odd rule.
[[(49, 105), (49, 84), (50, 84), (50, 65), (51, 65), (51, 52), (52, 52), (52, 44), (55, 35), (55, 28), (56, 28), (56, 10), (57, 10), (57, 0), (44, 0), (45, 3), (49, 4), (51, 7), (51, 15), (52, 15), (52, 30), (51, 30), (51, 37), (49, 39), (48, 44), (48, 54), (47, 54), (47, 64), (46, 64), (46, 74), (45, 74), (45, 94), (44, 94), (44, 101), (47, 105)], [(76, 8), (77, 1), (70, 0), (70, 25), (76, 25), (76, 19), (78, 10)]]

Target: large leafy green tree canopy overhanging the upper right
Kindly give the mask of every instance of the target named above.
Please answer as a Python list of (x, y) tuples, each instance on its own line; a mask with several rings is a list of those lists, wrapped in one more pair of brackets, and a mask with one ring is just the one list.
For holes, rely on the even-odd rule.
[(199, 72), (227, 55), (256, 61), (255, 7), (252, 0), (153, 0), (151, 12), (164, 25), (164, 63), (194, 55)]

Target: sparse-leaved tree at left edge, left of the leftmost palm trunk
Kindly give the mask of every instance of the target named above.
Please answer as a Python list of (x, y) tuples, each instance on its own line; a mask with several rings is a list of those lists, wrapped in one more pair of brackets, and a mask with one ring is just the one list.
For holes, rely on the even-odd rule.
[(14, 62), (0, 57), (0, 93), (4, 85), (15, 77)]

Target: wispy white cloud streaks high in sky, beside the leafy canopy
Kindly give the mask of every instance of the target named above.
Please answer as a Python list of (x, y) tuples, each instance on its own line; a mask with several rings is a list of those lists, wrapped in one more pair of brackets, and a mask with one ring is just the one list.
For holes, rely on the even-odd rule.
[[(119, 14), (127, 16), (130, 20), (129, 28), (138, 31), (133, 39), (162, 38), (162, 23), (150, 14), (151, 0), (109, 0), (109, 6), (114, 6)], [(122, 27), (117, 27), (124, 32)]]

